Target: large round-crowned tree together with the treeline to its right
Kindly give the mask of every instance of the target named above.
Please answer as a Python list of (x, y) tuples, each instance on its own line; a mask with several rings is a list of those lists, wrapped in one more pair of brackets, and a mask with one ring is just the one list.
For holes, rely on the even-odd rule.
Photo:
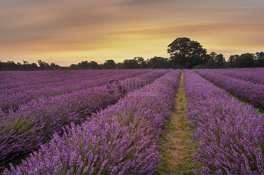
[(175, 39), (168, 47), (170, 64), (181, 64), (184, 69), (264, 67), (264, 52), (230, 55), (226, 60), (223, 54), (208, 54), (200, 43), (185, 37)]

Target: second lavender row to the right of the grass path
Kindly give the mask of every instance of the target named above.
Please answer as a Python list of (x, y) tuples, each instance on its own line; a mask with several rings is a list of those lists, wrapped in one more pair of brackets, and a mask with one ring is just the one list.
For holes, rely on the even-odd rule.
[(264, 110), (264, 84), (254, 84), (203, 69), (193, 69), (193, 71), (222, 87), (227, 92), (234, 94), (239, 99), (246, 100), (261, 110)]

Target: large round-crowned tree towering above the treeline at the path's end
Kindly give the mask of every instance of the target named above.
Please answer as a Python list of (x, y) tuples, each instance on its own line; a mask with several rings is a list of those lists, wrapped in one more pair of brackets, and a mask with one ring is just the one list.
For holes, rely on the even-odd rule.
[(172, 65), (182, 64), (184, 69), (202, 65), (210, 59), (206, 54), (207, 50), (200, 43), (186, 37), (175, 39), (168, 47)]

